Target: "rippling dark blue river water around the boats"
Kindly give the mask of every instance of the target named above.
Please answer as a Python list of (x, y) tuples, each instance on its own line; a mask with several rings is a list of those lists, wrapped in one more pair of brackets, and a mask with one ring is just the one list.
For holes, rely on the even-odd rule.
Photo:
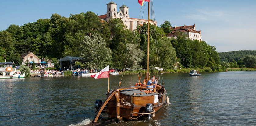
[[(256, 71), (201, 74), (163, 74), (171, 104), (165, 104), (150, 121), (109, 126), (256, 125)], [(110, 76), (110, 89), (118, 87), (121, 77)], [(136, 78), (132, 76), (133, 84)], [(124, 75), (120, 87), (130, 86), (130, 80), (131, 75)], [(107, 78), (0, 79), (0, 125), (88, 124), (95, 115), (95, 100), (104, 100), (107, 89)]]

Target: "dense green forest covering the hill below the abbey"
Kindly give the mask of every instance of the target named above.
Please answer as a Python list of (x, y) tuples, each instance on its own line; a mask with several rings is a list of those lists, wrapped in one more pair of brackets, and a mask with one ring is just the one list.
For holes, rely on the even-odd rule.
[[(150, 66), (208, 67), (213, 71), (221, 68), (214, 46), (182, 34), (177, 39), (167, 38), (168, 27), (171, 27), (169, 21), (161, 27), (150, 25)], [(20, 56), (30, 51), (56, 64), (65, 56), (80, 56), (84, 59), (76, 65), (82, 68), (100, 69), (109, 64), (123, 69), (126, 64), (136, 70), (146, 67), (146, 45), (147, 24), (131, 31), (121, 19), (107, 23), (93, 12), (71, 14), (68, 18), (52, 14), (50, 19), (38, 19), (23, 26), (11, 24), (0, 31), (0, 62), (7, 59), (7, 62), (21, 64)]]

